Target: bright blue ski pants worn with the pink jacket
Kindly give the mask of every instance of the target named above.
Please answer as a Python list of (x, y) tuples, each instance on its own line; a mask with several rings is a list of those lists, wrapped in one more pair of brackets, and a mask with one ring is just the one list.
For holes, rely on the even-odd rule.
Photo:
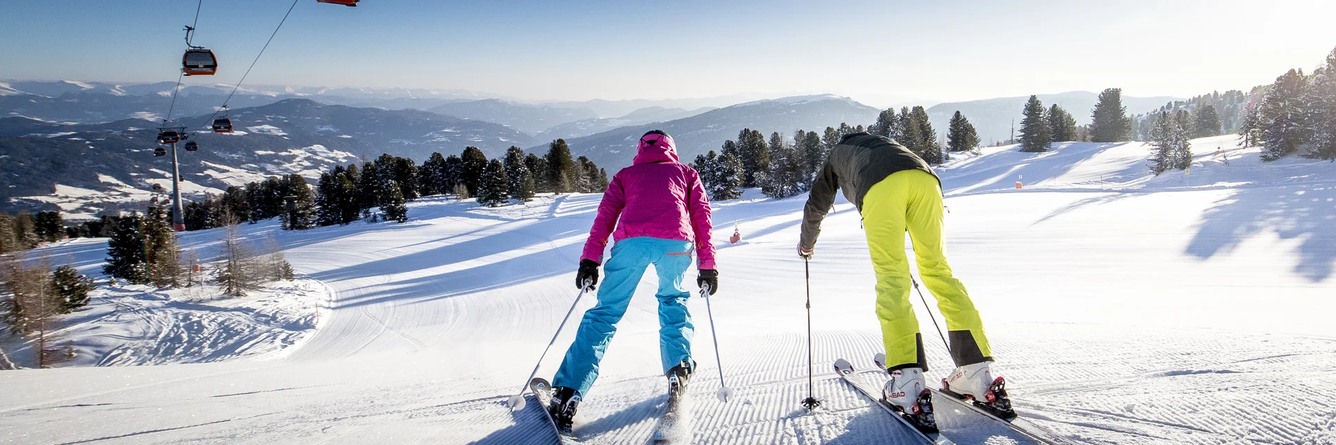
[(695, 327), (687, 313), (687, 298), (691, 293), (683, 287), (683, 275), (691, 267), (692, 243), (677, 239), (651, 237), (627, 238), (612, 246), (612, 257), (603, 265), (607, 275), (599, 286), (599, 303), (585, 311), (580, 321), (576, 339), (566, 349), (566, 357), (552, 378), (552, 386), (574, 388), (585, 394), (599, 378), (599, 362), (603, 359), (612, 334), (617, 333), (617, 322), (631, 306), (631, 295), (636, 293), (645, 267), (655, 265), (659, 274), (659, 354), (663, 370), (691, 361), (691, 337)]

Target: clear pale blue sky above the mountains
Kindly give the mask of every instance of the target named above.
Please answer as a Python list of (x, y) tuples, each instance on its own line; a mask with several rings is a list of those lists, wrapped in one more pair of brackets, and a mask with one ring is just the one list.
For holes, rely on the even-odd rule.
[[(194, 0), (11, 0), (0, 79), (175, 80)], [(235, 83), (290, 5), (204, 0)], [(301, 0), (247, 83), (524, 99), (854, 96), (871, 104), (1122, 87), (1190, 96), (1311, 69), (1331, 0)]]

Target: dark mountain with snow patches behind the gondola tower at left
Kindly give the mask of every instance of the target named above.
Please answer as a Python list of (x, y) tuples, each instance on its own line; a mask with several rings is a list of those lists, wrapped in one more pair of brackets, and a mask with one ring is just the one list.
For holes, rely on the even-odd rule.
[[(206, 128), (208, 115), (183, 118)], [(196, 130), (196, 152), (180, 152), (183, 192), (218, 194), (227, 186), (269, 175), (319, 176), (334, 164), (381, 154), (425, 160), (433, 151), (456, 154), (465, 146), (500, 156), (506, 147), (536, 140), (509, 127), (414, 110), (326, 106), (309, 99), (236, 108), (236, 130)], [(27, 118), (0, 119), (0, 208), (59, 207), (67, 218), (90, 218), (106, 203), (143, 202), (154, 184), (170, 190), (171, 162), (152, 155), (151, 120), (59, 124)]]

